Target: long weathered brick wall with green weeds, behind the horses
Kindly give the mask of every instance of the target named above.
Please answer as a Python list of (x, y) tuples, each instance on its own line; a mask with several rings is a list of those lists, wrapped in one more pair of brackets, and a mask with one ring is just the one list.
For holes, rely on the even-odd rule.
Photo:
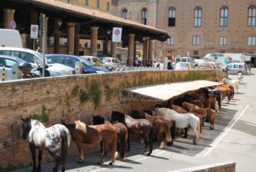
[[(21, 138), (20, 117), (44, 114), (49, 117), (49, 121), (44, 123), (46, 126), (58, 124), (60, 118), (79, 119), (91, 124), (91, 114), (109, 117), (113, 110), (129, 113), (132, 108), (145, 109), (153, 106), (154, 102), (127, 102), (122, 95), (123, 88), (195, 79), (213, 81), (224, 76), (225, 74), (218, 70), (161, 70), (1, 82), (0, 167), (10, 164), (22, 167), (32, 161), (27, 140)], [(77, 147), (71, 143), (68, 156), (77, 156)], [(98, 145), (87, 145), (85, 148), (86, 152), (93, 152), (98, 150)], [(44, 162), (51, 160), (45, 152)]]

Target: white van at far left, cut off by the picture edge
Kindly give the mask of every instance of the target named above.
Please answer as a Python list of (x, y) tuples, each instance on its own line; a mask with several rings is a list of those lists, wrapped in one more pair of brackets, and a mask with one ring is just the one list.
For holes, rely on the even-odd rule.
[(23, 48), (20, 32), (14, 29), (0, 29), (0, 47)]

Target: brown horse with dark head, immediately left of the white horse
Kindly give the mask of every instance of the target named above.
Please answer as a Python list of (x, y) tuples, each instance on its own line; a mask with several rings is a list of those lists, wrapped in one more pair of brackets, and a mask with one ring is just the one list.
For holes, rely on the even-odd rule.
[(139, 112), (138, 110), (132, 110), (131, 117), (134, 119), (148, 119), (154, 127), (155, 133), (159, 141), (161, 141), (160, 149), (165, 149), (166, 142), (173, 145), (175, 137), (175, 121), (164, 117), (152, 117), (146, 112)]

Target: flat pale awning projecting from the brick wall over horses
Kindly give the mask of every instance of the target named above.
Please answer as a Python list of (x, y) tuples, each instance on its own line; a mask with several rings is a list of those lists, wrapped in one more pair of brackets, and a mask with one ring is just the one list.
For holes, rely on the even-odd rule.
[(222, 83), (214, 81), (188, 81), (169, 84), (154, 84), (126, 88), (124, 93), (129, 100), (160, 100), (165, 101), (188, 91), (196, 91), (207, 86), (217, 86)]

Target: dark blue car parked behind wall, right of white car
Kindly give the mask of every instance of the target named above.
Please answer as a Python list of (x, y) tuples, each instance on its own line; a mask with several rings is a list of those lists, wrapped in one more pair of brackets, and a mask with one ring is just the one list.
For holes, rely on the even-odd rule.
[(69, 67), (72, 67), (73, 69), (75, 69), (75, 63), (80, 61), (83, 64), (83, 69), (82, 69), (83, 74), (110, 72), (110, 70), (106, 69), (105, 67), (94, 66), (94, 64), (89, 60), (80, 58), (77, 55), (47, 54), (46, 58), (50, 62), (57, 62), (63, 65), (67, 65)]

